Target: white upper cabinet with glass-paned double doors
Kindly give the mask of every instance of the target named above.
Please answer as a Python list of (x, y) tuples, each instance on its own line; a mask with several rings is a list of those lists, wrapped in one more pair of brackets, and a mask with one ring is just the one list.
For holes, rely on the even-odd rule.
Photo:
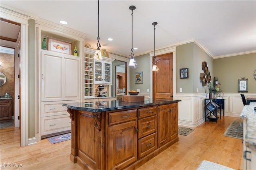
[(113, 59), (109, 58), (100, 61), (94, 60), (94, 74), (96, 84), (112, 84), (112, 61)]

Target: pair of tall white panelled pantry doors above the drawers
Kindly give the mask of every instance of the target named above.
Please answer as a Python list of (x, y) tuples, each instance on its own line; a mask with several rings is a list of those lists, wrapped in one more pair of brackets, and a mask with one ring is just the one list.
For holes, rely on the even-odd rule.
[(80, 58), (53, 51), (41, 53), (41, 101), (80, 100)]

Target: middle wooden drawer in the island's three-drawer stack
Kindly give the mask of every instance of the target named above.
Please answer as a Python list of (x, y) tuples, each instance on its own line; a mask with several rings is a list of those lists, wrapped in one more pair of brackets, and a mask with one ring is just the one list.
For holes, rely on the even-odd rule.
[(138, 120), (138, 138), (144, 137), (156, 132), (157, 117), (156, 115)]

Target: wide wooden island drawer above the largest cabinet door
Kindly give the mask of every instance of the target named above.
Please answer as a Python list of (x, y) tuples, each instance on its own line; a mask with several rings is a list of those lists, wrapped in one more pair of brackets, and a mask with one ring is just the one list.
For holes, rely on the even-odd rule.
[(137, 119), (137, 109), (109, 113), (109, 125)]

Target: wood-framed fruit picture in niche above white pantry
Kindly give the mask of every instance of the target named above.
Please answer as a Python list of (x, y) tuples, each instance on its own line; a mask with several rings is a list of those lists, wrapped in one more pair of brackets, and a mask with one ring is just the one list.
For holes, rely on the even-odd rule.
[(72, 43), (48, 37), (48, 50), (72, 55)]

